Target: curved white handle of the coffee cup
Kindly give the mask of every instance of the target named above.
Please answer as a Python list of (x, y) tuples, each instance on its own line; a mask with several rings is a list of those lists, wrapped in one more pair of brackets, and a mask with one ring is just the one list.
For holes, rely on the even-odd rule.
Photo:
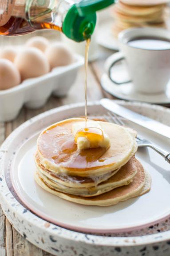
[(125, 81), (125, 82), (117, 82), (113, 78), (111, 78), (111, 68), (119, 61), (125, 59), (123, 56), (123, 53), (118, 52), (115, 54), (112, 54), (109, 58), (107, 58), (107, 61), (105, 62), (105, 71), (108, 75), (108, 77), (111, 79), (111, 81), (117, 85), (123, 84), (123, 83), (130, 83), (131, 80)]

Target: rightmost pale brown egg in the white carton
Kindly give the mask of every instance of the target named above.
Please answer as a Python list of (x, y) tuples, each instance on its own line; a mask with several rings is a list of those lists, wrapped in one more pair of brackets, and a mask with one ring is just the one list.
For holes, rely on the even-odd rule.
[(57, 66), (66, 66), (74, 61), (71, 50), (61, 42), (56, 42), (47, 47), (45, 55), (51, 69)]

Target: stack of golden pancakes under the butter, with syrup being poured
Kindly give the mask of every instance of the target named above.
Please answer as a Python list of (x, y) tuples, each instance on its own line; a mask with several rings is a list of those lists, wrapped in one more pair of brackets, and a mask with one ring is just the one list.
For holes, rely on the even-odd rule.
[(136, 132), (98, 121), (109, 136), (109, 149), (78, 150), (72, 124), (63, 120), (46, 128), (37, 140), (36, 182), (51, 194), (86, 205), (109, 206), (150, 190), (150, 176), (135, 159)]

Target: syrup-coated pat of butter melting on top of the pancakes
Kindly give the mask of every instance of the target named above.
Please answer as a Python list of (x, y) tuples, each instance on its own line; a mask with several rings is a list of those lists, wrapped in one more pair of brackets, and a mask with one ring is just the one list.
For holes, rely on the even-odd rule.
[(85, 122), (77, 122), (72, 125), (72, 132), (78, 149), (99, 147), (108, 149), (110, 147), (109, 137), (97, 121), (87, 121), (87, 128), (85, 128)]

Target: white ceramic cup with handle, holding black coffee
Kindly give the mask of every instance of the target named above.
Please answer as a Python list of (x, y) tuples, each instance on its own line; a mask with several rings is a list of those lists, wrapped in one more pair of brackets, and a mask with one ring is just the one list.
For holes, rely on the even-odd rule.
[(158, 28), (126, 29), (119, 33), (120, 52), (111, 55), (105, 64), (105, 69), (111, 80), (116, 84), (129, 83), (116, 82), (111, 76), (111, 68), (122, 59), (127, 62), (127, 70), (133, 82), (134, 91), (140, 93), (160, 93), (166, 90), (170, 80), (170, 48), (163, 50), (148, 50), (136, 48), (128, 44), (134, 38), (154, 37), (170, 41), (170, 32)]

